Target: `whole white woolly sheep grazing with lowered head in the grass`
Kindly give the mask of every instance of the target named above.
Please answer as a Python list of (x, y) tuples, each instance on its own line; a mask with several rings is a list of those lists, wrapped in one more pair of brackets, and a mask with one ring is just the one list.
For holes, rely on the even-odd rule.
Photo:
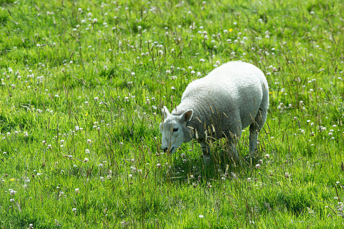
[(258, 133), (266, 121), (268, 105), (268, 82), (259, 68), (240, 61), (223, 64), (192, 81), (171, 113), (163, 106), (161, 149), (173, 154), (181, 143), (197, 139), (207, 163), (209, 140), (225, 137), (230, 143), (230, 156), (238, 160), (235, 145), (241, 131), (250, 126), (249, 150), (255, 158)]

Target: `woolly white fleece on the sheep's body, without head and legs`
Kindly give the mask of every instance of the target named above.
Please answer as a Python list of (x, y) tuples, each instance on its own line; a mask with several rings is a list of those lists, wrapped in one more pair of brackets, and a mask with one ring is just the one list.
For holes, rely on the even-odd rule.
[[(197, 130), (195, 138), (237, 135), (248, 127), (259, 110), (267, 110), (269, 90), (266, 77), (256, 66), (239, 61), (223, 64), (185, 89), (172, 114), (192, 109), (186, 126)], [(264, 124), (264, 123), (263, 123)], [(207, 134), (205, 134), (205, 129)]]

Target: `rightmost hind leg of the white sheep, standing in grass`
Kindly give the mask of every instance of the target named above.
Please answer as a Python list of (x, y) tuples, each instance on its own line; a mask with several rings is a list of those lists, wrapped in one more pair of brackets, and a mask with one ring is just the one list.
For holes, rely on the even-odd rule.
[(264, 106), (260, 106), (254, 122), (250, 125), (250, 136), (249, 136), (249, 145), (250, 145), (250, 156), (252, 158), (257, 157), (257, 145), (258, 145), (258, 133), (262, 129), (267, 117), (267, 110)]

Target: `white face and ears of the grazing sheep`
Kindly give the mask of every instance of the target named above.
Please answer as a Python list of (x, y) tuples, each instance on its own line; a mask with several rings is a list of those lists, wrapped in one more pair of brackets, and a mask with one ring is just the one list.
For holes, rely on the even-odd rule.
[(190, 121), (193, 110), (187, 110), (183, 114), (170, 114), (167, 107), (161, 109), (164, 121), (160, 123), (162, 134), (161, 149), (164, 152), (174, 153), (175, 150), (183, 143), (190, 141), (189, 131), (186, 123)]

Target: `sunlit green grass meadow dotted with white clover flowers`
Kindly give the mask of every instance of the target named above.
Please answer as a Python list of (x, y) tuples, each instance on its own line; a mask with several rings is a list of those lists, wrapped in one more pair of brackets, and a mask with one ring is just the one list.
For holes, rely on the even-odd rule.
[[(0, 0), (0, 227), (343, 228), (343, 38), (340, 0)], [(161, 107), (238, 60), (261, 161), (164, 154)]]

